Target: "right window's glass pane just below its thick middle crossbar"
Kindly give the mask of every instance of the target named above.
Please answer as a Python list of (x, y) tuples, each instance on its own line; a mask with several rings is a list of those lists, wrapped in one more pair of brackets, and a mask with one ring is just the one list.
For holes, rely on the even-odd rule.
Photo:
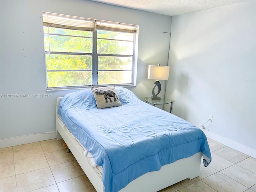
[(98, 70), (132, 70), (132, 57), (98, 56)]

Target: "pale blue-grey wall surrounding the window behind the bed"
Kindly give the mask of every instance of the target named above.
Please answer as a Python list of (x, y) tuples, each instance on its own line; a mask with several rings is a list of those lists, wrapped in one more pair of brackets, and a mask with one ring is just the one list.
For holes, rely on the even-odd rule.
[[(148, 65), (168, 63), (170, 36), (162, 32), (170, 32), (170, 16), (90, 1), (1, 0), (0, 94), (51, 94), (50, 98), (1, 97), (2, 143), (6, 138), (56, 130), (56, 98), (71, 92), (46, 92), (42, 11), (139, 25), (137, 86), (130, 90), (142, 100), (151, 95), (154, 82), (147, 79)], [(4, 140), (5, 146), (13, 140), (17, 139)]]

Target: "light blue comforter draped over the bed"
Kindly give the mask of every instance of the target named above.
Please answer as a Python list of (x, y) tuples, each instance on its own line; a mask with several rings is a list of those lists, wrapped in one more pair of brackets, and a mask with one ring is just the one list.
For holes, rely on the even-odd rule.
[(117, 192), (142, 174), (202, 152), (211, 161), (198, 127), (117, 88), (122, 106), (98, 110), (90, 89), (67, 94), (58, 114), (70, 132), (103, 167), (105, 192)]

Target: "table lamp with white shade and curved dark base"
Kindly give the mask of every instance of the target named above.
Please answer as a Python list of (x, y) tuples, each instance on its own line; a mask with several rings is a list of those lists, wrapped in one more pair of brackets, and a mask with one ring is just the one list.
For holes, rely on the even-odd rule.
[[(158, 64), (158, 66), (155, 66), (155, 65), (148, 66), (148, 79), (156, 80), (154, 82), (155, 85), (152, 89), (153, 96), (151, 98), (153, 100), (161, 100), (161, 98), (157, 96), (161, 91), (161, 84), (158, 80), (168, 80), (169, 79), (169, 70), (170, 70), (169, 66), (160, 66), (160, 64)], [(158, 87), (157, 94), (155, 94), (156, 86)]]

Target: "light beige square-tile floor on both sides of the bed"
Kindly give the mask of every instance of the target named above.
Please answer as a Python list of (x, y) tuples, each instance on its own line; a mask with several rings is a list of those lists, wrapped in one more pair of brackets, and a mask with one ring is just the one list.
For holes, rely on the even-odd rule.
[[(0, 192), (96, 192), (63, 140), (0, 149)], [(256, 192), (256, 159), (208, 139), (212, 162), (161, 192)]]

